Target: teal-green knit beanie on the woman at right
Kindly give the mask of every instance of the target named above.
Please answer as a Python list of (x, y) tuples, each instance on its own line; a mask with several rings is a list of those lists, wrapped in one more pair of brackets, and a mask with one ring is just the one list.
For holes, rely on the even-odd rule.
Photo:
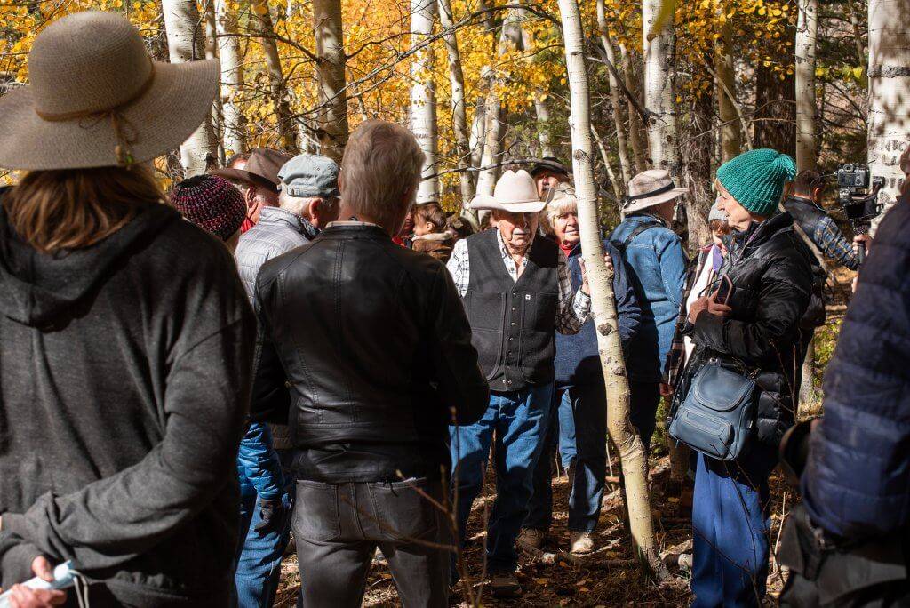
[(740, 205), (756, 215), (772, 216), (784, 184), (796, 175), (794, 159), (777, 150), (743, 152), (717, 169), (717, 179)]

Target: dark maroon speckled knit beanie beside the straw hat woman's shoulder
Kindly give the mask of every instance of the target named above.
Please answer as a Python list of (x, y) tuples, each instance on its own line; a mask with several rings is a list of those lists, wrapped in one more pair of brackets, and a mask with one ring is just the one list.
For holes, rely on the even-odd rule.
[(189, 177), (171, 191), (171, 205), (187, 221), (221, 240), (231, 238), (247, 218), (247, 202), (224, 177)]

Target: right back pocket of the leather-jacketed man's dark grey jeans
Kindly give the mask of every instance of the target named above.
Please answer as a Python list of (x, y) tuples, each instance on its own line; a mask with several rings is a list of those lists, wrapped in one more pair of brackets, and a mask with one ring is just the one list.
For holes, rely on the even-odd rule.
[(371, 483), (382, 535), (399, 542), (434, 536), (441, 512), (432, 501), (441, 503), (439, 485), (431, 484), (425, 477)]

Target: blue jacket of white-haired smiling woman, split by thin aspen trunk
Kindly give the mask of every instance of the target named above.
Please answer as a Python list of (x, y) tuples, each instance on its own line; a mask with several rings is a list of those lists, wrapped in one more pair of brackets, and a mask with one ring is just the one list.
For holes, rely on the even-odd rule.
[[(609, 241), (603, 241), (603, 250), (610, 253), (613, 262), (613, 296), (616, 300), (616, 315), (619, 318), (622, 349), (626, 350), (630, 340), (638, 332), (642, 310), (638, 307), (635, 290), (629, 282), (629, 271), (622, 261), (620, 252)], [(581, 287), (581, 245), (569, 252), (571, 289)], [(556, 334), (556, 386), (565, 389), (577, 384), (603, 382), (601, 356), (597, 351), (597, 332), (594, 321), (589, 319), (577, 334), (564, 336)]]

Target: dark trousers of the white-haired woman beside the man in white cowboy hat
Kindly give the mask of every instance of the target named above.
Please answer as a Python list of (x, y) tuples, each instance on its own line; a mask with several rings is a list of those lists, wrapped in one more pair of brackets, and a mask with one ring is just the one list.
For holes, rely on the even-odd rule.
[[(534, 469), (534, 493), (525, 528), (549, 530), (552, 523), (553, 493), (551, 459), (559, 444), (562, 467), (574, 468), (569, 494), (569, 530), (593, 532), (601, 516), (603, 478), (607, 466), (607, 394), (603, 383), (561, 390), (558, 412)], [(556, 441), (558, 436), (558, 441)]]

